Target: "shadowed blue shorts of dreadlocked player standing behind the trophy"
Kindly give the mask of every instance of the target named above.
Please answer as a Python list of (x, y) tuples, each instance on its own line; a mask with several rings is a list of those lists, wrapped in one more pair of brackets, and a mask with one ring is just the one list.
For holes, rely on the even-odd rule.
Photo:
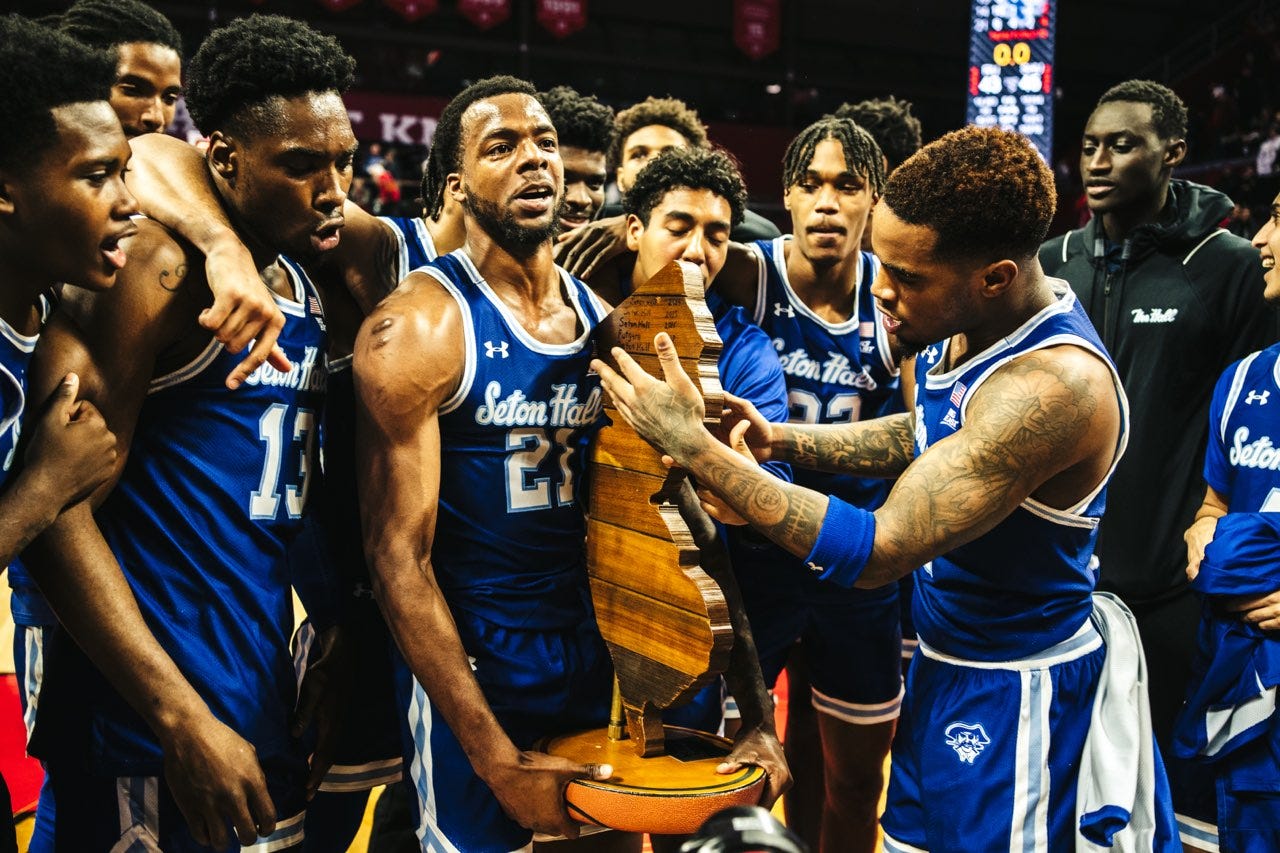
[(845, 589), (818, 580), (772, 543), (741, 530), (731, 538), (764, 683), (774, 685), (800, 640), (818, 711), (856, 725), (896, 720), (902, 702), (897, 584)]

